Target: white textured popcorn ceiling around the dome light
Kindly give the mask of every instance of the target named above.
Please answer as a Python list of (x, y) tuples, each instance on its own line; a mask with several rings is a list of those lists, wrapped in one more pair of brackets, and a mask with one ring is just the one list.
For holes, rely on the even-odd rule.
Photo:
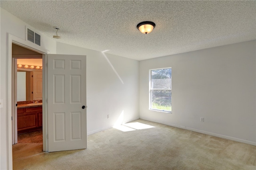
[[(144, 60), (256, 39), (256, 1), (0, 1), (56, 41)], [(153, 21), (144, 35), (136, 25)]]

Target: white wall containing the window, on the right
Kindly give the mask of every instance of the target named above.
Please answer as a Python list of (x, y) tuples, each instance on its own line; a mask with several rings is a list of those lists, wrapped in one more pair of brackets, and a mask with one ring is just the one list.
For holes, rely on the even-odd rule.
[[(140, 118), (256, 145), (255, 47), (254, 40), (140, 61)], [(148, 109), (148, 70), (166, 67), (172, 114)]]

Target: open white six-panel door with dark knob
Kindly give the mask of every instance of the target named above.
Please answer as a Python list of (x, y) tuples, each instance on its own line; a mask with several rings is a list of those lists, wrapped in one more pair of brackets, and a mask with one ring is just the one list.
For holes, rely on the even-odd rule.
[(86, 56), (48, 55), (48, 151), (87, 148)]

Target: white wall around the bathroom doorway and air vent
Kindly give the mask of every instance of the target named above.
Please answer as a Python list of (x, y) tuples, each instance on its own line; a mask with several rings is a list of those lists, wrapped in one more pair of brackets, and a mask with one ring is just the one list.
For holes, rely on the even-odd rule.
[[(3, 108), (0, 108), (0, 169), (8, 169), (8, 33), (25, 40), (25, 22), (19, 20), (6, 10), (0, 8), (0, 99), (3, 100)], [(39, 33), (39, 32), (38, 32)], [(56, 53), (56, 41), (41, 34), (41, 47)]]

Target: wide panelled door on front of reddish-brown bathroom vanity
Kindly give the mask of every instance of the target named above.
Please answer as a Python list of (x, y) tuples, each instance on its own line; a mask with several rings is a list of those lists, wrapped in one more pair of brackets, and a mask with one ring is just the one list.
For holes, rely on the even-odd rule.
[(38, 113), (18, 114), (18, 131), (38, 127)]

